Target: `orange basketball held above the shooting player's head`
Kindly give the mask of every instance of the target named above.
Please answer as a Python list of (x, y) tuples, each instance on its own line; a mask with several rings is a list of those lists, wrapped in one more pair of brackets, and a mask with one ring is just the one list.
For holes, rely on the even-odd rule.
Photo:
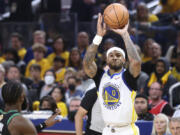
[(127, 8), (119, 3), (113, 3), (104, 10), (104, 22), (113, 29), (123, 28), (129, 20)]

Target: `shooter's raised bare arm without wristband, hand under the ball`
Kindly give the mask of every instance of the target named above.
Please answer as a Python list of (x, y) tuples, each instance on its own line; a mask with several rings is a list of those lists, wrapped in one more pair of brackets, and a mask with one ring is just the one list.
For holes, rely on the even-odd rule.
[(129, 59), (129, 71), (134, 77), (137, 77), (141, 72), (141, 58), (129, 36), (129, 33), (127, 31), (128, 26), (129, 23), (123, 29), (112, 30), (121, 35), (121, 37), (123, 38)]

